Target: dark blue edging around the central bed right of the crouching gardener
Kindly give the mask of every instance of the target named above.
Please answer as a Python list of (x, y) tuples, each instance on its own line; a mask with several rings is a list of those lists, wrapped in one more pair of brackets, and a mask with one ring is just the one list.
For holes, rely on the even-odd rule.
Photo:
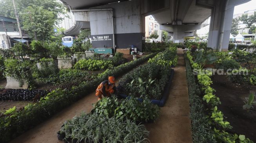
[[(168, 99), (169, 97), (169, 89), (171, 87), (171, 84), (172, 84), (172, 79), (173, 79), (173, 76), (174, 76), (174, 70), (172, 69), (171, 70), (171, 75), (169, 77), (169, 81), (168, 83), (165, 85), (165, 90), (163, 91), (163, 96), (161, 98), (161, 100), (155, 100), (155, 99), (152, 99), (151, 100), (151, 103), (155, 104), (155, 105), (158, 105), (159, 107), (163, 107), (166, 100)], [(118, 97), (120, 98), (130, 98), (128, 95), (125, 95), (125, 94), (119, 94)], [(138, 98), (138, 100), (140, 102), (142, 102), (142, 99), (141, 98)]]

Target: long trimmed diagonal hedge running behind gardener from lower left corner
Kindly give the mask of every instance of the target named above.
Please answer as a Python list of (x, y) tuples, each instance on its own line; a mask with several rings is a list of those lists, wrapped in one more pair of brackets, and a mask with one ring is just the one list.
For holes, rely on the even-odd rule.
[(112, 75), (118, 77), (123, 75), (124, 73), (127, 73), (127, 71), (132, 70), (134, 67), (144, 63), (155, 55), (156, 53), (149, 54), (129, 63), (121, 64), (113, 70), (106, 70), (98, 75), (95, 80), (83, 82), (79, 86), (73, 87), (71, 90), (56, 89), (49, 93), (43, 100), (40, 100), (40, 102), (36, 104), (29, 104), (24, 110), (19, 111), (12, 116), (0, 118), (0, 143), (10, 141), (26, 130), (31, 129), (33, 126), (44, 122), (58, 111), (76, 102), (88, 93), (91, 93), (96, 89), (98, 84), (103, 80), (106, 80), (108, 76)]

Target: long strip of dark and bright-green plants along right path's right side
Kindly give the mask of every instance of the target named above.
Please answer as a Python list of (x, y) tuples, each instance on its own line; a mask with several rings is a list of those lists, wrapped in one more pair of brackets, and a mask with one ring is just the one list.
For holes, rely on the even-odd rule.
[[(187, 59), (189, 60), (191, 66), (193, 69), (200, 69), (200, 65), (198, 63), (194, 63), (193, 57), (191, 55), (191, 52), (187, 52)], [(186, 62), (186, 64), (189, 64), (189, 62)], [(214, 95), (215, 89), (211, 88), (212, 80), (210, 76), (212, 75), (211, 71), (208, 70), (201, 70), (198, 72), (198, 75), (196, 75), (198, 84), (200, 84), (200, 91), (197, 91), (196, 86), (191, 86), (192, 83), (195, 82), (193, 78), (193, 73), (191, 72), (192, 69), (189, 69), (190, 66), (187, 67), (187, 77), (189, 78), (188, 83), (189, 86), (189, 95), (193, 96), (195, 98), (200, 97), (200, 91), (201, 93), (204, 93), (205, 95), (203, 98), (198, 98), (199, 101), (196, 101), (199, 103), (198, 105), (195, 104), (194, 102), (191, 102), (191, 108), (193, 109), (191, 111), (192, 114), (192, 131), (193, 131), (193, 139), (194, 141), (205, 141), (207, 142), (224, 142), (224, 143), (253, 143), (249, 138), (245, 138), (244, 135), (237, 135), (237, 134), (230, 134), (229, 132), (226, 132), (227, 129), (231, 129), (232, 126), (230, 125), (229, 122), (225, 121), (225, 116), (223, 115), (222, 111), (218, 110), (218, 105), (221, 104), (220, 98), (218, 98), (216, 95)], [(192, 91), (191, 91), (192, 90)], [(197, 94), (198, 96), (194, 95)], [(195, 101), (195, 99), (192, 99), (190, 97), (190, 101)], [(201, 104), (205, 102), (207, 106), (204, 106), (204, 104)], [(193, 107), (195, 105), (196, 107)], [(200, 106), (201, 105), (201, 106)], [(199, 109), (201, 108), (201, 109)], [(199, 109), (198, 111), (196, 111)], [(204, 110), (209, 113), (210, 116), (204, 115), (203, 112)], [(194, 112), (193, 112), (194, 111)], [(200, 112), (201, 111), (201, 112)], [(196, 127), (195, 123), (201, 123), (198, 122), (198, 116), (195, 116), (194, 114), (202, 114), (200, 121), (202, 121), (202, 125), (204, 125), (206, 128), (203, 129), (201, 132), (196, 130), (199, 129), (200, 127)], [(193, 118), (194, 117), (194, 118)], [(194, 123), (195, 122), (195, 123)], [(209, 125), (211, 127), (209, 127)], [(208, 127), (207, 127), (208, 126)], [(200, 128), (201, 129), (201, 128)], [(222, 131), (220, 131), (220, 129)], [(200, 134), (204, 132), (204, 134)], [(195, 133), (195, 134), (194, 134)], [(206, 134), (205, 134), (206, 133)], [(212, 137), (212, 138), (211, 138)]]

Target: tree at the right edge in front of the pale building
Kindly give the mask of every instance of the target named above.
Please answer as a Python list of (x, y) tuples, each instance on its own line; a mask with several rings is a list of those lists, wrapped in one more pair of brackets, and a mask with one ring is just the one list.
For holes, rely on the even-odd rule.
[(243, 21), (243, 23), (247, 25), (247, 28), (249, 28), (249, 34), (255, 32), (255, 26), (253, 24), (256, 23), (256, 11), (254, 11), (254, 14), (251, 16), (248, 16), (248, 14), (243, 14), (241, 17), (239, 17), (239, 20)]

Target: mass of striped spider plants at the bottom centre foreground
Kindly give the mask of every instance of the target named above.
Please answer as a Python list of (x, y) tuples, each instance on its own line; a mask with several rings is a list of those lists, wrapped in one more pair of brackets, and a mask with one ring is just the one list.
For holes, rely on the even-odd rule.
[(98, 114), (82, 113), (63, 123), (60, 133), (65, 133), (64, 141), (84, 141), (87, 143), (148, 143), (149, 131), (144, 125), (136, 125), (130, 120), (109, 118)]

